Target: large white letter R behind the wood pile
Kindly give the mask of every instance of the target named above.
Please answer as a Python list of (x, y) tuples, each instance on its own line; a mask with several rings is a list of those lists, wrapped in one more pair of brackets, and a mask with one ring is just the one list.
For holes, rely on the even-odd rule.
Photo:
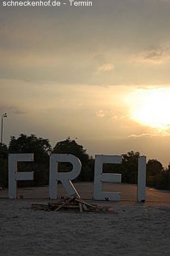
[[(71, 163), (73, 170), (71, 172), (58, 172), (58, 163)], [(75, 179), (81, 171), (81, 162), (76, 156), (70, 154), (52, 154), (50, 155), (50, 174), (49, 174), (49, 198), (57, 199), (57, 184), (60, 180), (70, 196), (78, 195), (73, 183), (70, 180)]]

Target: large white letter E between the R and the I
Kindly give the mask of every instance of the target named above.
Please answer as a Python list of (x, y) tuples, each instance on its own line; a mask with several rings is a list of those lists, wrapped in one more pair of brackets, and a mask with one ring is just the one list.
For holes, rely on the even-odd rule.
[(96, 155), (94, 199), (120, 201), (120, 193), (101, 192), (102, 181), (121, 183), (121, 174), (103, 174), (103, 163), (121, 164), (122, 157), (117, 155)]

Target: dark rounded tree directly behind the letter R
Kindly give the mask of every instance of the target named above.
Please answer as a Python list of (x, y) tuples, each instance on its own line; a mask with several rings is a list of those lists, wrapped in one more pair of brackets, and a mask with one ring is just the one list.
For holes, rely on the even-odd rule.
[[(82, 171), (78, 180), (91, 181), (94, 178), (94, 159), (86, 153), (86, 149), (79, 145), (70, 137), (65, 141), (58, 142), (53, 148), (53, 153), (56, 154), (71, 154), (80, 159), (82, 163)], [(71, 164), (59, 164), (59, 169), (62, 171), (71, 171)], [(77, 179), (76, 179), (77, 180)]]

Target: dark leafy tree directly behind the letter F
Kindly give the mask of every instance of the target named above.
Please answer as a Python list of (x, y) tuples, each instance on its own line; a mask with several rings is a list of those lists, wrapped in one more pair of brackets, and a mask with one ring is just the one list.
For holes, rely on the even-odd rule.
[(46, 185), (49, 180), (49, 154), (51, 146), (48, 139), (37, 138), (35, 134), (27, 136), (20, 134), (16, 139), (14, 136), (10, 139), (9, 144), (10, 153), (33, 153), (34, 162), (28, 162), (27, 166), (24, 163), (19, 163), (18, 168), (25, 171), (30, 171), (33, 168), (34, 180), (32, 182), (22, 181), (24, 185)]

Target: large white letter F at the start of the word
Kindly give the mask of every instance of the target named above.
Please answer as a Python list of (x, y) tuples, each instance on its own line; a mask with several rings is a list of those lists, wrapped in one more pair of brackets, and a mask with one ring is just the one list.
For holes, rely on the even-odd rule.
[(33, 154), (8, 155), (8, 196), (16, 199), (17, 180), (33, 180), (33, 172), (18, 172), (17, 162), (33, 161)]

